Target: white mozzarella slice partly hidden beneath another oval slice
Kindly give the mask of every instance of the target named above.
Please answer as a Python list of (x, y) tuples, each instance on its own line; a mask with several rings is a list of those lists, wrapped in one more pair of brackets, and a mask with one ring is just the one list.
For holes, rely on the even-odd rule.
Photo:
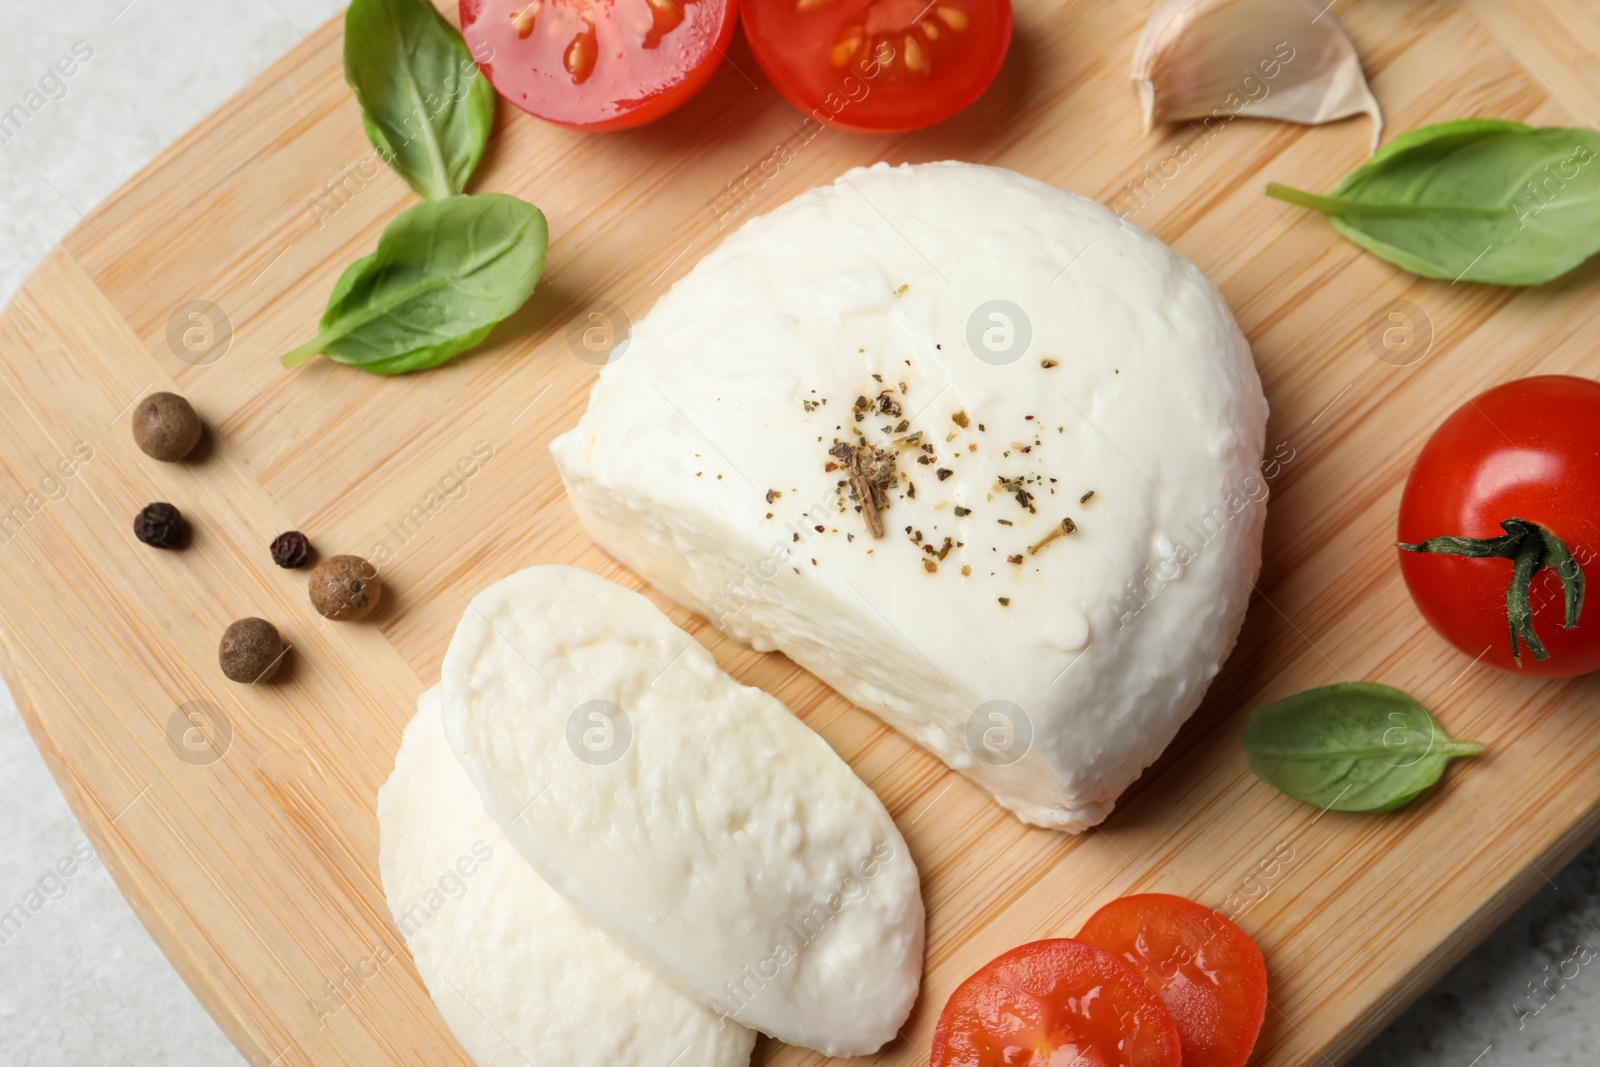
[(389, 910), (480, 1067), (749, 1062), (754, 1032), (622, 952), (517, 854), (445, 741), (438, 689), (405, 729), (378, 825)]

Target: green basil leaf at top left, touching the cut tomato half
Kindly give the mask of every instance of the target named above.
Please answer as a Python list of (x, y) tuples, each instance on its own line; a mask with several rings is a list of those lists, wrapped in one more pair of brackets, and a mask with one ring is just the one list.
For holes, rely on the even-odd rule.
[(344, 78), (378, 154), (429, 200), (459, 194), (494, 125), (494, 88), (427, 0), (354, 0)]

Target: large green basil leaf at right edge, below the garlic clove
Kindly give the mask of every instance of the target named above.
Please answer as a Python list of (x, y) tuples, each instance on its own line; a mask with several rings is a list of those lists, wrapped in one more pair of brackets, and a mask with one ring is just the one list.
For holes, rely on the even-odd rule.
[(1267, 195), (1426, 278), (1539, 285), (1600, 253), (1600, 133), (1448, 122), (1397, 138), (1326, 197)]

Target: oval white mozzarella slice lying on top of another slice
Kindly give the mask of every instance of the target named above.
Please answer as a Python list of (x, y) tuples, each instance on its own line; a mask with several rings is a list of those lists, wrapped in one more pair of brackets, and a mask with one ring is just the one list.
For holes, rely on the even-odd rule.
[(917, 995), (906, 841), (818, 734), (638, 593), (534, 566), (467, 608), (445, 731), (533, 867), (714, 1011), (872, 1053)]

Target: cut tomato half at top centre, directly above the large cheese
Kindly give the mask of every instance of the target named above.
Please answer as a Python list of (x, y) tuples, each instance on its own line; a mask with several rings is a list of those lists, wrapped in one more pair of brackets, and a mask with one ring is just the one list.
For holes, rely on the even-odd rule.
[(976, 101), (1011, 43), (1011, 0), (744, 0), (784, 98), (845, 130), (917, 130)]

